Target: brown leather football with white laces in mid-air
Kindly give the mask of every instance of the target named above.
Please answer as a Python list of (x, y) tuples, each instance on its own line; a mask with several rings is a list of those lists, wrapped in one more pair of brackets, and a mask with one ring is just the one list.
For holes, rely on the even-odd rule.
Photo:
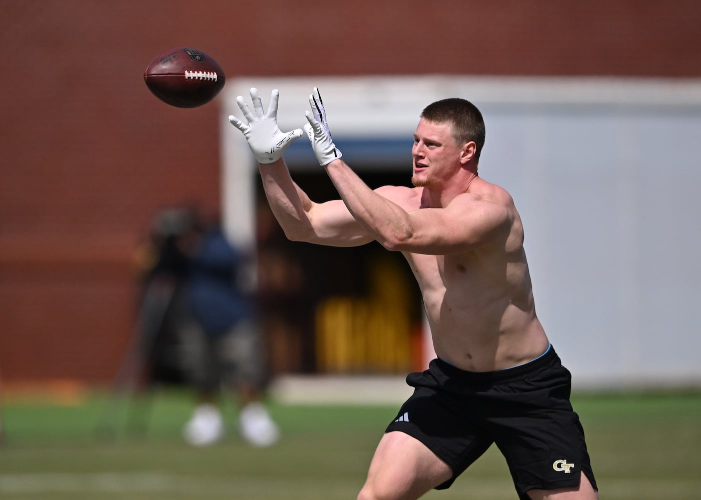
[(226, 76), (219, 63), (201, 50), (179, 47), (154, 57), (144, 71), (144, 81), (161, 101), (196, 108), (219, 94)]

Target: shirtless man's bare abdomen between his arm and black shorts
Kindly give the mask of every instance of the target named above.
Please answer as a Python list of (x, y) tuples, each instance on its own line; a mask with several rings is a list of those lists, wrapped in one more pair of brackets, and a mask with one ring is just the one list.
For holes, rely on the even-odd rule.
[(547, 349), (525, 261), (500, 267), (459, 256), (407, 260), (421, 287), (436, 354), (444, 361), (469, 371), (503, 370)]

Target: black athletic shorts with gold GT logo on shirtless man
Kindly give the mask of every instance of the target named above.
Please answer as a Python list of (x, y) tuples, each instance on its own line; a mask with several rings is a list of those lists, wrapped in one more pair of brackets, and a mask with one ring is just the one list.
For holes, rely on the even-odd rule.
[(496, 443), (519, 498), (531, 489), (579, 485), (580, 471), (597, 489), (584, 431), (570, 404), (571, 374), (552, 346), (507, 370), (468, 372), (441, 359), (410, 373), (414, 394), (386, 432), (409, 434), (453, 470), (445, 489)]

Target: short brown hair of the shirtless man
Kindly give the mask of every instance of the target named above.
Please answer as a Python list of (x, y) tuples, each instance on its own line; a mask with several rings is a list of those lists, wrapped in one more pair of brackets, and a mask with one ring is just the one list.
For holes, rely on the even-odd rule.
[(449, 123), (458, 144), (475, 141), (475, 165), (484, 147), (486, 129), (477, 106), (466, 99), (451, 97), (433, 102), (421, 111), (421, 118), (433, 123)]

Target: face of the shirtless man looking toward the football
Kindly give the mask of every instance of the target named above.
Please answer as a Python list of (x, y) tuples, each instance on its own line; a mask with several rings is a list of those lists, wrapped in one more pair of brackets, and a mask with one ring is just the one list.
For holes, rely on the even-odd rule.
[(414, 174), (416, 187), (435, 186), (448, 181), (461, 167), (461, 148), (456, 144), (448, 123), (434, 123), (421, 118), (414, 132)]

